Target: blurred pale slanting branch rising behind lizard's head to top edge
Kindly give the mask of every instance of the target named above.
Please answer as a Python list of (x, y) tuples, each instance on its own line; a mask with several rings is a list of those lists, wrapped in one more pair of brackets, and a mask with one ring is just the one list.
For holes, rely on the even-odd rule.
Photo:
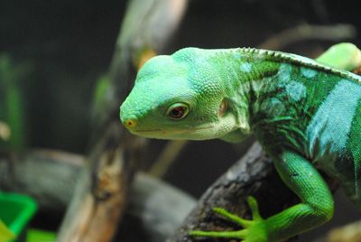
[(180, 23), (187, 3), (187, 0), (129, 1), (108, 71), (108, 88), (94, 110), (97, 127), (101, 129), (106, 120), (118, 115), (120, 102), (133, 87), (133, 79), (128, 80), (127, 73), (139, 67), (144, 53), (162, 51)]

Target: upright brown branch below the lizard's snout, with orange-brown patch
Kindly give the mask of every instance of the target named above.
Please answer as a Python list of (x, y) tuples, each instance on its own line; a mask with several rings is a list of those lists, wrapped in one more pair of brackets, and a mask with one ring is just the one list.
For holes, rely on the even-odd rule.
[[(140, 146), (139, 140), (132, 141), (133, 147), (120, 143), (121, 135), (121, 128), (113, 123), (93, 148), (76, 181), (57, 241), (109, 241), (114, 236), (134, 172), (135, 146)], [(126, 160), (125, 149), (130, 153)]]

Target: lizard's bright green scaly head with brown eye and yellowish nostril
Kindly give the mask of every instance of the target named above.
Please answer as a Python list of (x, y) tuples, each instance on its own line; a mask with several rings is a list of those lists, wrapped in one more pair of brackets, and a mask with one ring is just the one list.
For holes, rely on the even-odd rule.
[(134, 135), (203, 140), (236, 129), (225, 88), (208, 51), (186, 48), (147, 61), (120, 107), (122, 123)]

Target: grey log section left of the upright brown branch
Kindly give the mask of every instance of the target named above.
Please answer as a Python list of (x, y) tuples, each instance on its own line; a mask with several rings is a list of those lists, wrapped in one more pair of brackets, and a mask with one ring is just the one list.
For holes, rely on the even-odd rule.
[(45, 212), (63, 213), (74, 191), (84, 157), (51, 150), (3, 154), (0, 190), (30, 195)]

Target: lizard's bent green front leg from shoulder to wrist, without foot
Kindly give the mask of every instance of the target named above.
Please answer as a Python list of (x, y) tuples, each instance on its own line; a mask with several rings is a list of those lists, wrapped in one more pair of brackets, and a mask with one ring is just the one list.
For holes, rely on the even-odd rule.
[(299, 154), (284, 152), (274, 165), (301, 203), (266, 219), (271, 241), (295, 236), (332, 218), (334, 204), (329, 186), (310, 161)]

